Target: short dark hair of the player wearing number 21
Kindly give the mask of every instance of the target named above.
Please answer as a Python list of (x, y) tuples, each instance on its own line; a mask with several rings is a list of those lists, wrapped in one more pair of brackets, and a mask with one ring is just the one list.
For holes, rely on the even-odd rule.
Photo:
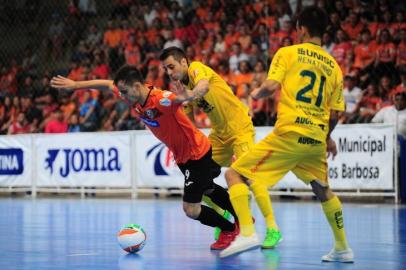
[(317, 6), (306, 7), (300, 12), (297, 23), (299, 27), (306, 27), (311, 37), (321, 38), (328, 25), (328, 16)]

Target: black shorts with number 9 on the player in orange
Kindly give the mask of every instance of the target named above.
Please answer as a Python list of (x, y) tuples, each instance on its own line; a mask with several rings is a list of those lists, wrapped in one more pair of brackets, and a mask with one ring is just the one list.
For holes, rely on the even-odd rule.
[(204, 193), (213, 189), (213, 179), (220, 175), (221, 167), (211, 158), (211, 148), (198, 160), (178, 164), (185, 176), (183, 201), (199, 203)]

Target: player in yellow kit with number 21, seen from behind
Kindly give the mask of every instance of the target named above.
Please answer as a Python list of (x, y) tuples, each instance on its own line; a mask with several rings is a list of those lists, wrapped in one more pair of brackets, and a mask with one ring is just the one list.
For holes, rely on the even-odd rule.
[[(344, 110), (340, 67), (321, 47), (327, 15), (317, 7), (304, 9), (297, 22), (302, 42), (275, 54), (267, 80), (251, 95), (270, 96), (281, 87), (278, 119), (271, 134), (239, 158), (226, 172), (230, 199), (240, 222), (240, 235), (220, 253), (221, 257), (259, 246), (248, 204), (249, 188), (265, 217), (267, 230), (276, 229), (268, 187), (292, 171), (310, 184), (320, 199), (335, 238), (334, 248), (323, 261), (353, 262), (347, 244), (342, 206), (328, 185), (327, 153), (337, 154), (330, 134)], [(280, 238), (276, 236), (276, 238)]]

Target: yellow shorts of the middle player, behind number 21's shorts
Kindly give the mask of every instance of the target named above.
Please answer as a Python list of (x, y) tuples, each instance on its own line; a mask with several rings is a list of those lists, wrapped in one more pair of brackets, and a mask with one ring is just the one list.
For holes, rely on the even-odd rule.
[(221, 167), (229, 167), (233, 155), (238, 159), (254, 146), (255, 130), (249, 129), (247, 132), (227, 138), (210, 133), (209, 140), (212, 145), (213, 160)]

